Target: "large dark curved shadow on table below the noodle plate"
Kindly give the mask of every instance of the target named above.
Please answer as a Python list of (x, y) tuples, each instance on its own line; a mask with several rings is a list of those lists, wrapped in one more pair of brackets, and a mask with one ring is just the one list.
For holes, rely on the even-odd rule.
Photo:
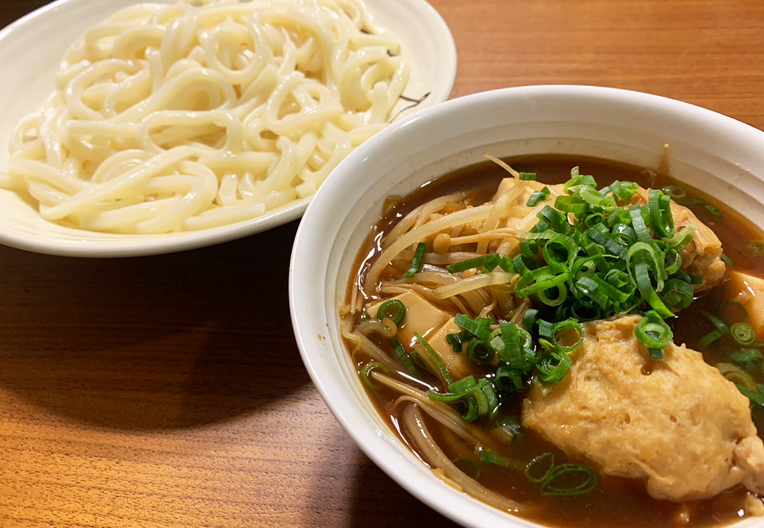
[(310, 381), (287, 299), (295, 232), (147, 258), (0, 248), (0, 387), (125, 430), (215, 423), (299, 390)]

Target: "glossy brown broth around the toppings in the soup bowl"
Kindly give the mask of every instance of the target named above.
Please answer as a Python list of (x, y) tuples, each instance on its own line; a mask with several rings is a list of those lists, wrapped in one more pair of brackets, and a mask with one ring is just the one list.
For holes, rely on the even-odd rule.
[[(515, 170), (537, 173), (538, 181), (544, 184), (565, 183), (570, 178), (571, 167), (576, 166), (581, 167), (582, 174), (593, 175), (597, 180), (598, 188), (609, 185), (613, 180), (633, 181), (646, 188), (659, 188), (677, 183), (670, 177), (656, 174), (652, 170), (591, 157), (543, 155), (509, 158), (505, 161)], [(491, 162), (484, 162), (449, 173), (427, 183), (403, 199), (388, 202), (387, 211), (372, 232), (367, 246), (361, 251), (358, 265), (355, 268), (359, 273), (351, 280), (348, 299), (354, 287), (357, 284), (363, 284), (363, 278), (371, 262), (379, 256), (380, 240), (407, 212), (430, 199), (457, 191), (473, 193), (475, 196), (473, 203), (477, 206), (490, 200), (504, 177), (507, 177), (507, 173), (501, 167)], [(710, 196), (704, 195), (696, 189), (691, 189), (684, 183), (681, 186), (687, 189), (688, 198), (705, 199), (708, 203), (717, 206), (722, 213), (721, 218), (717, 218), (702, 206), (691, 207), (698, 219), (713, 229), (720, 238), (724, 254), (732, 259), (733, 266), (727, 267), (727, 274), (729, 274), (730, 269), (742, 269), (764, 276), (764, 258), (750, 257), (745, 251), (746, 245), (750, 241), (764, 239), (759, 228)], [(724, 283), (699, 294), (689, 308), (681, 310), (678, 318), (669, 321), (674, 332), (675, 343), (685, 343), (689, 348), (702, 351), (705, 361), (711, 365), (730, 361), (729, 342), (715, 342), (707, 348), (702, 348), (698, 343), (701, 336), (714, 329), (702, 311), (717, 312), (718, 306), (726, 300), (722, 296), (723, 285)], [(363, 292), (362, 289), (361, 291)], [(374, 294), (363, 293), (367, 300), (377, 299)], [(387, 345), (384, 343), (384, 339), (372, 338), (372, 340), (377, 342), (380, 347)], [(749, 374), (755, 378), (757, 383), (764, 383), (761, 365), (758, 365)], [(429, 388), (424, 384), (419, 384), (419, 386), (423, 390)], [(400, 416), (398, 416), (397, 410), (393, 410), (393, 402), (399, 394), (386, 387), (368, 392), (380, 414), (387, 419), (393, 430), (398, 432), (403, 442), (406, 442), (414, 452), (417, 452), (414, 443), (407, 436), (403, 427), (400, 426)], [(503, 408), (507, 413), (516, 416), (518, 422), (520, 422), (522, 400), (523, 394), (520, 393), (509, 407)], [(430, 416), (425, 414), (424, 419), (440, 448), (449, 458), (452, 460), (465, 457), (475, 459), (470, 444), (455, 436), (445, 426), (431, 419)], [(759, 429), (759, 436), (762, 436), (764, 420), (759, 421), (757, 416), (754, 416), (754, 419)], [(479, 425), (481, 420), (478, 419), (474, 423)], [(555, 445), (542, 439), (538, 433), (526, 428), (523, 428), (520, 435), (516, 436), (512, 442), (502, 444), (497, 441), (490, 448), (501, 455), (520, 462), (523, 468), (533, 458), (544, 452), (554, 453), (558, 463), (586, 463), (584, 459), (571, 459)], [(675, 449), (681, 449), (681, 445), (675, 446)], [(419, 457), (425, 460), (422, 455)], [(578, 497), (546, 497), (539, 492), (539, 487), (536, 484), (526, 479), (522, 469), (498, 468), (485, 464), (480, 465), (480, 468), (480, 484), (510, 499), (536, 506), (531, 513), (521, 513), (521, 517), (547, 526), (566, 528), (583, 528), (584, 526), (587, 528), (720, 526), (731, 523), (741, 516), (741, 505), (748, 495), (748, 492), (741, 485), (711, 499), (676, 503), (650, 497), (641, 479), (617, 478), (598, 473), (600, 484), (592, 494)], [(681, 521), (680, 513), (682, 511), (689, 513), (689, 523)]]

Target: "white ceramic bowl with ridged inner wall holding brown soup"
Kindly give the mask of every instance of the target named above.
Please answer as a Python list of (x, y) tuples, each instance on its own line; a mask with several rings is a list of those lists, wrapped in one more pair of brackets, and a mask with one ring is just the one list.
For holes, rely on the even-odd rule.
[[(377, 414), (340, 341), (338, 306), (385, 197), (403, 195), (483, 152), (583, 154), (657, 167), (764, 222), (764, 132), (683, 102), (591, 86), (528, 86), (445, 102), (362, 145), (319, 189), (299, 227), (290, 306), (306, 367), (332, 413), (390, 477), (465, 526), (537, 526), (432, 476)], [(736, 527), (753, 526), (743, 520)]]

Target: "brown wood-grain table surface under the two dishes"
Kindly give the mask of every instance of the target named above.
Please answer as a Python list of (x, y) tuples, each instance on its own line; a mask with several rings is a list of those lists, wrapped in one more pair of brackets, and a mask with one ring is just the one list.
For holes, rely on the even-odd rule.
[[(0, 25), (45, 3), (2, 0)], [(454, 97), (617, 86), (764, 128), (762, 0), (432, 4)], [(0, 526), (452, 526), (312, 386), (286, 298), (296, 227), (151, 258), (0, 247)]]

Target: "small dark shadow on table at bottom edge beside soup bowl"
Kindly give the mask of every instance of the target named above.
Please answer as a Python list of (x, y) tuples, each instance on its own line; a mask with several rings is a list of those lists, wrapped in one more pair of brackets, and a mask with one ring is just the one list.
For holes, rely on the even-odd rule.
[(356, 467), (350, 500), (353, 528), (458, 526), (401, 488), (360, 451)]

